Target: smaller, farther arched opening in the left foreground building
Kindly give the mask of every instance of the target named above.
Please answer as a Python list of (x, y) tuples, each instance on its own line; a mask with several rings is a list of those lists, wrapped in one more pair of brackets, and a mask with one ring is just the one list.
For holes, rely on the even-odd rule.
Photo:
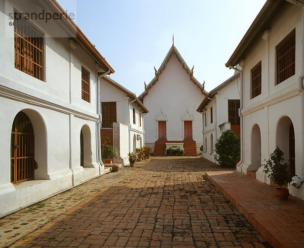
[(80, 131), (80, 166), (92, 167), (91, 131), (87, 125)]

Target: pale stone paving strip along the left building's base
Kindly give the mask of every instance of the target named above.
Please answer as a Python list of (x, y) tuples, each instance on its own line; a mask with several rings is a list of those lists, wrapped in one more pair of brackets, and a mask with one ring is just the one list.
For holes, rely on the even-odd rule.
[[(146, 161), (140, 162), (142, 164)], [(138, 164), (140, 164), (138, 163)], [(0, 247), (8, 246), (20, 237), (47, 224), (89, 196), (107, 189), (131, 173), (128, 168), (117, 173), (101, 175), (91, 181), (50, 197), (28, 208), (0, 219)]]

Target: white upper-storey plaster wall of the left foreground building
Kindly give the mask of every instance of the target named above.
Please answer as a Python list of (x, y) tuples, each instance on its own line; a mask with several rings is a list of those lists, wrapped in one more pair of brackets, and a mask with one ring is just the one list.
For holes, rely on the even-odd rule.
[[(13, 8), (16, 8), (23, 13), (41, 12), (39, 7), (28, 5), (27, 1), (6, 1), (5, 4), (7, 5), (6, 9), (11, 9), (12, 11)], [(3, 5), (0, 8), (0, 22), (5, 23), (5, 7)], [(0, 27), (0, 43), (2, 44), (0, 48), (2, 54), (0, 58), (0, 75), (15, 81), (17, 84), (22, 82), (23, 86), (35, 91), (31, 94), (33, 96), (46, 94), (51, 98), (55, 98), (53, 101), (59, 100), (66, 103), (69, 103), (71, 98), (73, 106), (97, 113), (95, 94), (97, 74), (94, 60), (77, 44), (75, 44), (77, 49), (71, 49), (70, 55), (68, 38), (53, 38), (52, 33), (49, 32), (50, 26), (53, 28), (58, 26), (58, 32), (63, 30), (54, 20), (51, 20), (48, 24), (37, 20), (34, 24), (45, 32), (44, 80), (41, 81), (14, 68), (14, 28), (7, 25), (1, 25)], [(82, 65), (90, 71), (90, 103), (82, 100), (81, 96)], [(69, 71), (71, 71), (71, 77), (69, 76)], [(18, 86), (15, 84), (10, 87), (18, 90)]]

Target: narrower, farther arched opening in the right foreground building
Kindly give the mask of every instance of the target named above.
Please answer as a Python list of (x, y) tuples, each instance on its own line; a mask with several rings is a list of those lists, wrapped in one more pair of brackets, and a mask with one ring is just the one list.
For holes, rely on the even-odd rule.
[(261, 166), (261, 132), (257, 124), (251, 130), (251, 171), (257, 171)]

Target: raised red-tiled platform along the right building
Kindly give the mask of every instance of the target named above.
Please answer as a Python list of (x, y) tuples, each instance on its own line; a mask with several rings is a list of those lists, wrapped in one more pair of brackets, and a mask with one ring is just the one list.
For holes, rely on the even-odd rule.
[(279, 200), (275, 187), (238, 172), (206, 176), (274, 247), (304, 246), (303, 200)]

